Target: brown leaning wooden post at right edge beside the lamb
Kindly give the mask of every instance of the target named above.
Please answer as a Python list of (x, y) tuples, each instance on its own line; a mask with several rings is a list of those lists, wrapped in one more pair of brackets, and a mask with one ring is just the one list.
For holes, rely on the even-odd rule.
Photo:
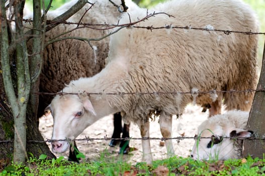
[[(257, 84), (257, 90), (265, 89), (265, 44), (263, 49), (262, 67)], [(255, 93), (252, 108), (249, 113), (246, 129), (254, 131), (254, 137), (264, 138), (265, 134), (265, 92)], [(264, 140), (244, 140), (243, 156), (264, 158), (265, 141)]]

